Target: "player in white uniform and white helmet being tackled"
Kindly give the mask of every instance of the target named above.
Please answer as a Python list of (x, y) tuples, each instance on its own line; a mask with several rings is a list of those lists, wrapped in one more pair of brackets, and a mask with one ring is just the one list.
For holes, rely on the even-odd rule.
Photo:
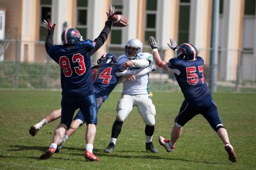
[[(153, 56), (150, 53), (142, 52), (142, 49), (143, 44), (140, 40), (129, 40), (125, 46), (125, 54), (119, 56), (118, 62), (122, 64), (124, 69), (129, 68), (129, 70), (148, 67), (153, 61)], [(146, 150), (153, 153), (158, 152), (152, 142), (156, 112), (150, 98), (148, 85), (148, 74), (137, 76), (133, 81), (127, 79), (123, 82), (123, 92), (117, 104), (117, 116), (112, 126), (110, 142), (104, 152), (113, 152), (122, 125), (134, 106), (138, 108), (138, 112), (146, 124)]]

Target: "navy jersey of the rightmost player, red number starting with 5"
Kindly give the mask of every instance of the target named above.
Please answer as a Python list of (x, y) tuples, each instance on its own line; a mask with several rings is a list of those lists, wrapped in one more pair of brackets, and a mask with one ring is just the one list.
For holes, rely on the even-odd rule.
[(173, 58), (168, 66), (178, 69), (180, 75), (174, 74), (185, 100), (200, 101), (212, 99), (210, 90), (204, 82), (203, 59), (197, 56), (194, 61), (184, 61)]

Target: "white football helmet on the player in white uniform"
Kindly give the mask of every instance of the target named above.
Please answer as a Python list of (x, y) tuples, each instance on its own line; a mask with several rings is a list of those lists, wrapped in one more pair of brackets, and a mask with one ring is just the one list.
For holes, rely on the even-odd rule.
[(125, 55), (130, 60), (135, 59), (138, 53), (142, 52), (142, 42), (136, 38), (130, 39), (125, 46)]

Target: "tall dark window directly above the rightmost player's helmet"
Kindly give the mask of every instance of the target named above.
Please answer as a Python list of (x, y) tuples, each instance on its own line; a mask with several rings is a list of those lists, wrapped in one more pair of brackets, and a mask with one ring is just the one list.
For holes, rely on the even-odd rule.
[(179, 4), (178, 44), (189, 42), (190, 1), (181, 0)]

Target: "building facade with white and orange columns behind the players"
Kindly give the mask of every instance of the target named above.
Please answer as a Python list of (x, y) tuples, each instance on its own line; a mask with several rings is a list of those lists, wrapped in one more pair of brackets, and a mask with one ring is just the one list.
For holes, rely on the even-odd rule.
[[(84, 39), (94, 40), (104, 27), (110, 4), (129, 19), (127, 27), (113, 26), (107, 42), (94, 56), (105, 52), (124, 53), (131, 38), (138, 38), (149, 50), (148, 37), (159, 40), (164, 60), (174, 56), (169, 38), (178, 44), (194, 44), (210, 69), (211, 27), (215, 0), (0, 0), (5, 11), (5, 40), (1, 61), (46, 62), (43, 19), (56, 23), (54, 43), (61, 44), (67, 27), (78, 29)], [(219, 0), (218, 79), (256, 79), (256, 18), (254, 0)], [(9, 41), (8, 41), (9, 40)], [(16, 42), (20, 42), (15, 43)], [(11, 42), (11, 43), (10, 43)], [(18, 52), (17, 52), (18, 50)], [(253, 52), (254, 51), (254, 52)], [(17, 54), (18, 53), (18, 54)], [(238, 69), (240, 68), (240, 69)]]

